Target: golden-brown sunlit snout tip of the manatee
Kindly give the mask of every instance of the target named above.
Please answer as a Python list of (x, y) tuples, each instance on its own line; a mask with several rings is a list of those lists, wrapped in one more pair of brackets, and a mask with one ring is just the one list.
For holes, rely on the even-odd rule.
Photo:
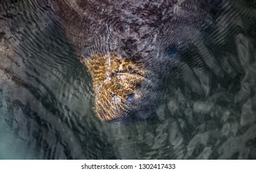
[(104, 122), (148, 119), (156, 101), (156, 85), (143, 63), (114, 53), (82, 58), (91, 76), (95, 112)]

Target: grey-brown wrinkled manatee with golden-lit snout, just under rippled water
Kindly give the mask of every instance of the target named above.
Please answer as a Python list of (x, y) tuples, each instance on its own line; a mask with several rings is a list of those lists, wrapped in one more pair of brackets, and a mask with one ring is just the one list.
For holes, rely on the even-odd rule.
[(92, 75), (98, 117), (111, 122), (150, 117), (178, 52), (213, 25), (220, 1), (49, 3)]

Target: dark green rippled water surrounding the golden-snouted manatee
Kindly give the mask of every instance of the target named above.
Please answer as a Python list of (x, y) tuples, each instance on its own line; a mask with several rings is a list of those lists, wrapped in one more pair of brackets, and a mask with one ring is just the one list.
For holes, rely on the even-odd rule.
[[(153, 119), (105, 123), (44, 1), (0, 1), (0, 159), (256, 159), (256, 2), (226, 1)], [(174, 79), (173, 79), (174, 78)]]

